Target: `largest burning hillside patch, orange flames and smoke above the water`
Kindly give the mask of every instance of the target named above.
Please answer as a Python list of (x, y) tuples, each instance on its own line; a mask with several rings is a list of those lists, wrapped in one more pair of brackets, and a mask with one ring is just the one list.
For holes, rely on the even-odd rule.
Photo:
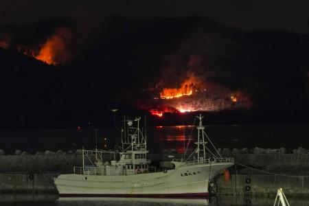
[(194, 111), (223, 111), (233, 108), (249, 108), (251, 100), (240, 90), (231, 91), (219, 84), (207, 82), (191, 75), (179, 88), (164, 87), (142, 107), (157, 117), (165, 113), (190, 113)]

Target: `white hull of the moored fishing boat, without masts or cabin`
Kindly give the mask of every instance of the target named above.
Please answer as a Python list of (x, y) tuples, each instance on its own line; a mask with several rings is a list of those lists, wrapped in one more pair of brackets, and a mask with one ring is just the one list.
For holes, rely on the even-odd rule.
[(55, 184), (62, 197), (203, 197), (209, 179), (233, 163), (183, 165), (175, 170), (127, 176), (61, 174)]

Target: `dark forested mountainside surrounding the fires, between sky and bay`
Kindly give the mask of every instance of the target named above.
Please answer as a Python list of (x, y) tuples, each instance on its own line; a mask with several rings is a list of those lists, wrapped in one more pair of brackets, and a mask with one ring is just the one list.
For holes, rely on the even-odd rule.
[[(18, 52), (38, 47), (59, 28), (69, 60), (47, 65)], [(0, 28), (0, 128), (113, 125), (111, 108), (143, 113), (134, 102), (162, 78), (187, 69), (244, 91), (251, 110), (211, 113), (224, 123), (308, 122), (309, 36), (243, 31), (198, 16), (182, 19), (50, 19)], [(58, 54), (61, 56), (62, 54)], [(199, 62), (190, 64), (192, 56)], [(172, 65), (172, 66), (171, 66)], [(172, 70), (165, 76), (165, 71)], [(120, 113), (119, 113), (120, 114)], [(152, 119), (155, 119), (152, 117)], [(210, 119), (211, 121), (211, 119)]]

